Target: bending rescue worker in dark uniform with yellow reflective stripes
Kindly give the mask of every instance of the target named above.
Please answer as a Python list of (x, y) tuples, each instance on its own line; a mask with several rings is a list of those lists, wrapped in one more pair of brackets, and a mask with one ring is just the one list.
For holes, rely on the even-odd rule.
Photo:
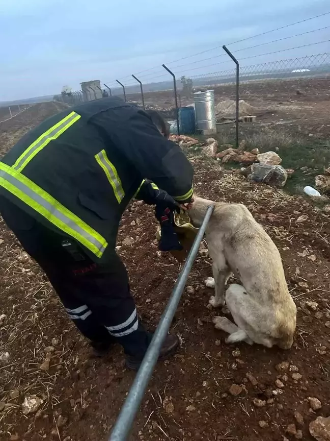
[[(193, 196), (193, 168), (160, 133), (161, 121), (116, 97), (96, 100), (46, 119), (0, 162), (6, 224), (42, 267), (96, 355), (118, 342), (134, 370), (152, 334), (139, 321), (115, 251), (120, 218), (146, 185), (147, 202), (172, 211)], [(163, 190), (152, 192), (143, 179)], [(178, 343), (169, 334), (160, 356), (172, 355)]]

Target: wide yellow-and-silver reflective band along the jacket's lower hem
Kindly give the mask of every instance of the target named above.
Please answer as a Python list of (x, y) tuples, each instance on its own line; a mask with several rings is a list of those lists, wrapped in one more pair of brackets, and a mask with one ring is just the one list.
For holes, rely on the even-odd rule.
[(29, 178), (3, 162), (0, 162), (0, 185), (97, 257), (102, 256), (107, 242), (97, 231)]

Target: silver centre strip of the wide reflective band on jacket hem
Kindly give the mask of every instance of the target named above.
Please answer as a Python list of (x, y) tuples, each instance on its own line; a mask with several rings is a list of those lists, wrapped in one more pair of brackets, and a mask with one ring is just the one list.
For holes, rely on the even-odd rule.
[[(96, 239), (92, 234), (89, 234), (87, 231), (84, 230), (84, 228), (81, 228), (72, 219), (70, 219), (68, 216), (66, 216), (64, 213), (62, 213), (60, 210), (58, 210), (56, 208), (56, 205), (52, 205), (50, 202), (48, 202), (46, 199), (44, 199), (40, 194), (36, 193), (34, 190), (32, 190), (27, 185), (25, 185), (23, 182), (19, 181), (14, 176), (10, 175), (9, 173), (7, 173), (6, 171), (1, 170), (1, 169), (0, 169), (0, 177), (6, 179), (9, 183), (14, 185), (19, 190), (21, 190), (29, 198), (33, 199), (38, 205), (40, 205), (45, 210), (47, 210), (49, 215), (47, 215), (45, 217), (50, 222), (52, 222), (51, 217), (55, 217), (56, 219), (61, 220), (61, 222), (66, 224), (69, 228), (71, 228), (76, 233), (80, 234), (86, 240), (88, 240), (90, 243), (92, 243), (100, 251), (101, 254), (104, 252), (105, 246), (98, 239)], [(56, 225), (56, 223), (54, 223), (54, 222), (52, 222), (52, 223), (54, 225)]]

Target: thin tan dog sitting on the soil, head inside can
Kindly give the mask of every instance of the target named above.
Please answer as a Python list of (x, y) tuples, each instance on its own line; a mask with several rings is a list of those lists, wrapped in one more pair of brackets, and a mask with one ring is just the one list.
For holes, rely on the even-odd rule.
[(228, 332), (227, 343), (256, 342), (271, 348), (289, 349), (296, 327), (296, 306), (288, 291), (280, 253), (268, 234), (242, 204), (214, 203), (201, 198), (188, 207), (188, 214), (200, 227), (208, 206), (214, 206), (206, 228), (206, 241), (213, 260), (215, 287), (209, 303), (223, 306), (225, 284), (231, 273), (243, 286), (231, 284), (226, 304), (234, 325), (226, 317), (214, 317), (217, 329)]

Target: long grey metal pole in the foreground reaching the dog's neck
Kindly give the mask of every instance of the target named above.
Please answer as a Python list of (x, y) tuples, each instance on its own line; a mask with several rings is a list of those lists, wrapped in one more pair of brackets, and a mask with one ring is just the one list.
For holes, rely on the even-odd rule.
[(153, 373), (162, 342), (168, 334), (174, 314), (177, 310), (182, 295), (182, 291), (187, 282), (191, 266), (193, 266), (195, 257), (199, 250), (200, 243), (204, 236), (206, 226), (213, 212), (213, 208), (213, 206), (209, 206), (206, 211), (203, 223), (195, 238), (193, 247), (191, 247), (187, 260), (173, 288), (170, 300), (161, 316), (160, 322), (153, 335), (149, 348), (146, 352), (146, 355), (144, 356), (140, 369), (135, 376), (134, 382), (129, 390), (127, 398), (123, 404), (113, 431), (108, 438), (108, 441), (125, 441), (130, 433), (135, 415), (140, 408), (145, 390)]

